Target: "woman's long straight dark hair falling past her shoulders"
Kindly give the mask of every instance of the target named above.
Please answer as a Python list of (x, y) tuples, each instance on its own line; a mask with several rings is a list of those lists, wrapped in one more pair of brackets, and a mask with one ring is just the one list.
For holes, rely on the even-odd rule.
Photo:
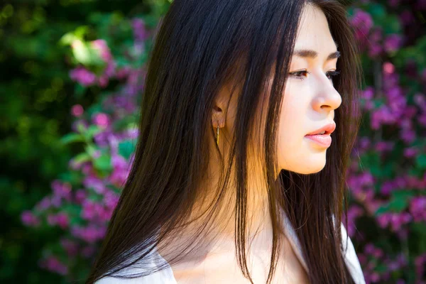
[[(334, 112), (337, 129), (324, 169), (310, 175), (281, 170), (277, 179), (274, 170), (280, 106), (302, 9), (307, 4), (324, 12), (342, 55), (337, 62), (341, 72), (333, 80), (342, 104)], [(232, 158), (222, 159), (218, 192), (229, 182), (229, 170), (235, 163), (237, 259), (244, 276), (251, 280), (244, 238), (247, 145), (256, 123), (251, 118), (261, 104), (261, 91), (271, 72), (274, 80), (263, 125), (263, 159), (273, 222), (268, 283), (278, 261), (283, 226), (280, 209), (297, 228), (310, 283), (353, 283), (342, 256), (340, 226), (347, 203), (346, 168), (359, 131), (362, 75), (346, 16), (344, 6), (334, 0), (175, 0), (171, 4), (148, 63), (140, 137), (131, 172), (87, 283), (104, 276), (126, 278), (120, 271), (143, 261), (150, 263), (147, 259), (153, 247), (187, 224), (201, 196), (198, 185), (205, 178), (211, 155), (208, 141), (215, 138), (214, 97), (230, 81), (239, 84), (241, 92), (235, 139), (231, 141)], [(219, 204), (224, 204), (223, 197), (219, 194), (209, 207), (206, 219), (200, 222), (204, 226), (194, 234), (191, 244), (201, 244), (206, 236), (202, 229), (216, 216)], [(172, 262), (178, 261), (174, 258)], [(157, 270), (154, 267), (131, 277)]]

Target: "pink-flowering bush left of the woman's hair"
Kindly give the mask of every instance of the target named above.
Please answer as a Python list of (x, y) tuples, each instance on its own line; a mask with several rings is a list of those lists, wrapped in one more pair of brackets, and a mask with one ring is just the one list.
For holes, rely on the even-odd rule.
[[(138, 136), (136, 106), (141, 98), (137, 95), (143, 89), (153, 27), (143, 18), (123, 18), (108, 25), (109, 37), (119, 40), (120, 34), (131, 40), (123, 40), (111, 51), (107, 40), (84, 40), (89, 33), (84, 27), (60, 41), (70, 46), (70, 62), (75, 65), (70, 78), (77, 83), (76, 92), (103, 91), (99, 102), (89, 109), (80, 104), (72, 107), (73, 132), (62, 137), (62, 143), (75, 143), (83, 151), (70, 160), (67, 173), (53, 180), (52, 194), (21, 214), (27, 226), (63, 231), (60, 239), (46, 244), (39, 266), (66, 275), (68, 280), (88, 273), (119, 200)], [(114, 89), (107, 91), (110, 84)]]

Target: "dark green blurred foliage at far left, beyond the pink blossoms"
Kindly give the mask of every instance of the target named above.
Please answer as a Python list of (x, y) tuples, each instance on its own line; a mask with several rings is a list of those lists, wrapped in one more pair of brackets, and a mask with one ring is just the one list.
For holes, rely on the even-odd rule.
[[(154, 3), (155, 2), (155, 3)], [(0, 5), (0, 206), (1, 283), (66, 283), (60, 275), (38, 267), (42, 249), (58, 239), (60, 230), (51, 227), (37, 231), (23, 226), (20, 214), (31, 209), (51, 192), (50, 182), (60, 177), (80, 180), (67, 172), (70, 159), (91, 159), (81, 153), (84, 141), (98, 129), (71, 133), (70, 109), (81, 104), (88, 109), (99, 96), (99, 89), (87, 88), (70, 80), (77, 62), (101, 70), (99, 54), (87, 40), (107, 35), (105, 23), (124, 21), (144, 11), (154, 25), (167, 1), (8, 1)], [(151, 9), (151, 7), (153, 7)], [(117, 25), (119, 26), (119, 25)], [(121, 25), (121, 28), (124, 26)], [(120, 35), (121, 37), (117, 36)], [(71, 40), (82, 45), (71, 50)], [(131, 40), (131, 28), (115, 31), (116, 43)], [(116, 45), (114, 45), (116, 46)], [(119, 66), (141, 62), (118, 61)], [(110, 169), (110, 157), (96, 158), (97, 167)], [(79, 214), (79, 212), (75, 212)], [(78, 219), (78, 218), (77, 218)], [(72, 218), (71, 222), (77, 222)], [(88, 268), (87, 268), (88, 269)], [(80, 271), (81, 278), (87, 269)], [(25, 273), (21, 273), (25, 271)]]

